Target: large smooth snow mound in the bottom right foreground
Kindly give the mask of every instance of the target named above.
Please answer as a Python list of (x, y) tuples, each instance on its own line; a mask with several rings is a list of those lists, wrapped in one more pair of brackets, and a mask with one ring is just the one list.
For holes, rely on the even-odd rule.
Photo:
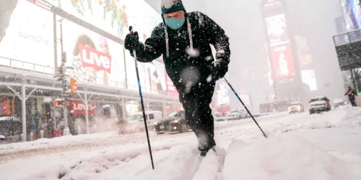
[(289, 134), (247, 144), (235, 140), (225, 159), (226, 180), (360, 179), (358, 172), (308, 141)]

